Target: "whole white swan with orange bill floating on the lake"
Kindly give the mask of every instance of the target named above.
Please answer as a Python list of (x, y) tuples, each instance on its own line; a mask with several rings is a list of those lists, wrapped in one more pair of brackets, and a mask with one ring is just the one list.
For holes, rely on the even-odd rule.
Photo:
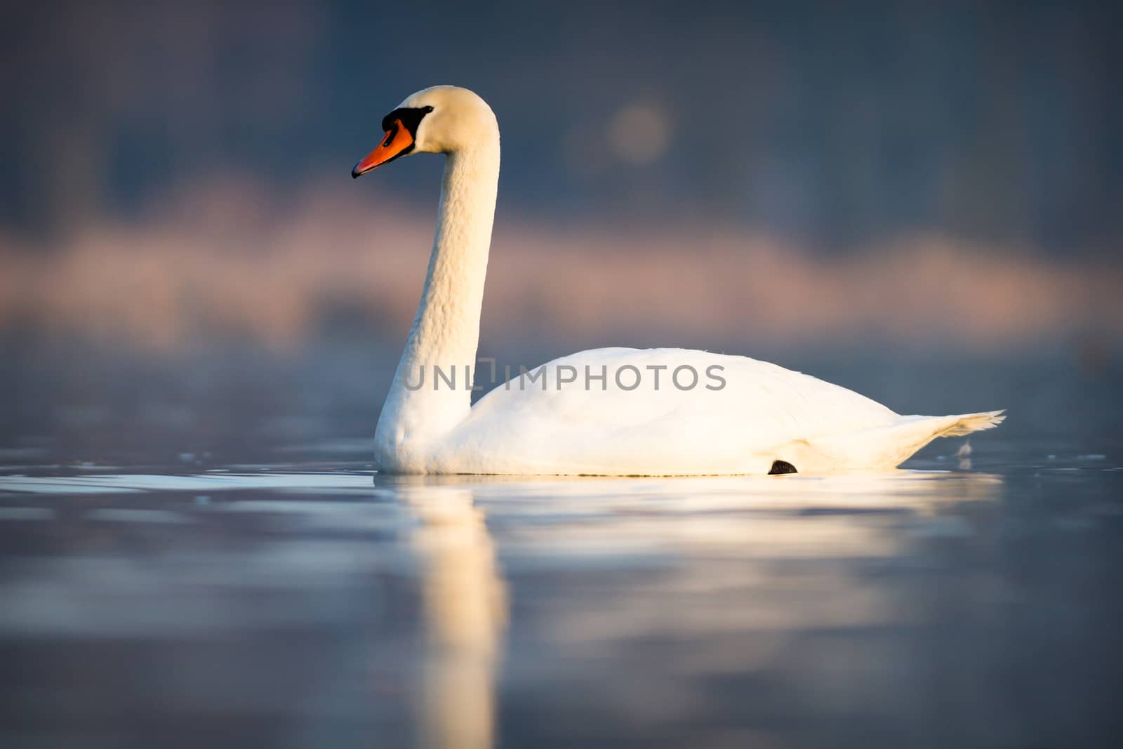
[[(472, 367), (499, 185), (499, 125), (457, 86), (383, 118), (358, 177), (445, 154), (421, 302), (375, 430), (398, 474), (673, 476), (888, 469), (937, 437), (995, 427), (1003, 411), (901, 415), (775, 364), (681, 348), (600, 348), (520, 368), (472, 405)], [(459, 381), (457, 381), (459, 375)]]

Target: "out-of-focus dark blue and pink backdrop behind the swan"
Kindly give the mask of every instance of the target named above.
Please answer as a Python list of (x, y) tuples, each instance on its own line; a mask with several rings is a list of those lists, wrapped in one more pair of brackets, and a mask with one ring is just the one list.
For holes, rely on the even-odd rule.
[[(101, 441), (70, 457), (149, 432), (237, 440), (246, 413), (372, 431), (441, 163), (349, 170), (382, 115), (436, 83), (478, 92), (503, 133), (482, 355), (711, 348), (903, 410), (928, 403), (902, 402), (891, 362), (937, 386), (980, 362), (1046, 360), (1074, 383), (1117, 369), (1111, 3), (3, 15), (10, 449), (91, 424)], [(976, 405), (995, 404), (960, 410)]]

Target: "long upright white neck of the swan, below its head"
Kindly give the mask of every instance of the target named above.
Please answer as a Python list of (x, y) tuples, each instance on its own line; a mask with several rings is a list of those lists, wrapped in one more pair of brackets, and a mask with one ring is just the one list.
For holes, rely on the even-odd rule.
[(446, 157), (421, 304), (378, 418), (380, 467), (421, 467), (413, 464), (468, 415), (497, 185), (497, 131)]

